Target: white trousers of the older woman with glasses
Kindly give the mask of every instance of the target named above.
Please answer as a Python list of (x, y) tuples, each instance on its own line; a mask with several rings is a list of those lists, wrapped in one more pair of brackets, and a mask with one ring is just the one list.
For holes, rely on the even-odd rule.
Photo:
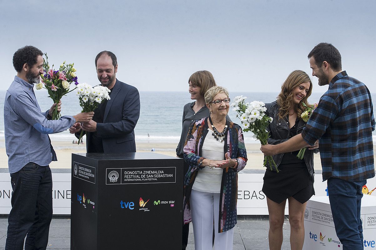
[(214, 249), (232, 250), (233, 228), (226, 232), (218, 233), (219, 196), (219, 193), (191, 191), (190, 205), (195, 250), (213, 249), (213, 221), (215, 232)]

